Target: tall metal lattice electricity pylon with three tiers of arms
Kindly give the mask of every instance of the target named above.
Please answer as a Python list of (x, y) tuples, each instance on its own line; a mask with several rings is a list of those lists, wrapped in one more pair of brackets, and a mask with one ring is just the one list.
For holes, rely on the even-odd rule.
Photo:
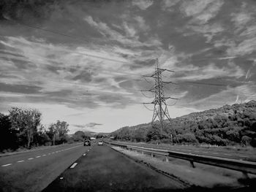
[[(154, 93), (154, 101), (150, 103), (143, 103), (143, 104), (154, 104), (154, 110), (153, 110), (153, 117), (151, 124), (153, 126), (154, 120), (159, 118), (160, 121), (160, 132), (162, 134), (162, 128), (163, 128), (163, 121), (167, 118), (167, 120), (170, 120), (170, 115), (167, 109), (166, 101), (167, 99), (175, 99), (173, 97), (166, 97), (164, 92), (164, 86), (167, 84), (176, 84), (174, 82), (166, 82), (162, 80), (162, 72), (173, 72), (168, 69), (161, 69), (159, 68), (158, 64), (158, 58), (156, 59), (156, 69), (153, 74), (151, 75), (143, 75), (143, 77), (149, 77), (154, 78), (154, 86), (149, 90), (143, 90)], [(174, 130), (175, 131), (175, 130)], [(176, 134), (176, 131), (175, 131)]]

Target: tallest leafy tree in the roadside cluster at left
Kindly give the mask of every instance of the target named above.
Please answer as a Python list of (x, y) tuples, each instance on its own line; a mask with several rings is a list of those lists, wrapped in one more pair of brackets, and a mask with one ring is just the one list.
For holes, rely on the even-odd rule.
[(18, 131), (21, 142), (23, 143), (23, 139), (25, 139), (27, 147), (30, 148), (41, 120), (41, 112), (38, 110), (22, 110), (18, 107), (12, 107), (9, 112), (12, 129)]

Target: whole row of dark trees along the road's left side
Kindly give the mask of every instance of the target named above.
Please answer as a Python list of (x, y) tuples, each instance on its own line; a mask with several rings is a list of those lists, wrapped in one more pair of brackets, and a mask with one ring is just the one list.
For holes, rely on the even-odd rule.
[(42, 113), (35, 109), (12, 107), (8, 115), (0, 113), (0, 152), (19, 147), (59, 145), (69, 141), (69, 124), (57, 120), (49, 127), (41, 124)]

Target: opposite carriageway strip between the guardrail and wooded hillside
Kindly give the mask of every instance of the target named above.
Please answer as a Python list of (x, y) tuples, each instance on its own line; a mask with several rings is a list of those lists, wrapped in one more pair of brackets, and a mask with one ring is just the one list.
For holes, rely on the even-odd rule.
[(139, 147), (156, 148), (162, 150), (173, 150), (182, 153), (192, 153), (196, 155), (209, 155), (214, 157), (222, 158), (232, 158), (244, 161), (256, 161), (256, 151), (244, 152), (238, 150), (228, 150), (223, 147), (192, 147), (192, 146), (182, 146), (182, 145), (151, 145), (142, 144), (135, 142), (116, 142), (124, 145), (134, 145)]

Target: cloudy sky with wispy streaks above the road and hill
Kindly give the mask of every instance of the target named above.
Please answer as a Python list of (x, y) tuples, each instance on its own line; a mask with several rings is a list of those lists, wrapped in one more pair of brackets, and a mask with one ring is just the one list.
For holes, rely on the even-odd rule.
[(0, 112), (75, 131), (149, 123), (156, 59), (171, 118), (256, 100), (256, 1), (0, 2)]

